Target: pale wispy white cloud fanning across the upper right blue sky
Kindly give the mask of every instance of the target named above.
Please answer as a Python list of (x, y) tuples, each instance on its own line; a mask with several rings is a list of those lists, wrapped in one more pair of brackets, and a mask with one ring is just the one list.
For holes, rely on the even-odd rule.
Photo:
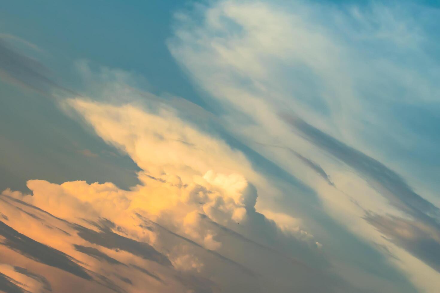
[[(236, 138), (312, 186), (332, 217), (353, 233), (374, 235), (378, 242), (393, 247), (405, 264), (389, 261), (411, 275), (419, 289), (430, 291), (436, 282), (423, 275), (433, 278), (436, 272), (427, 265), (419, 267), (419, 260), (381, 238), (362, 218), (365, 210), (401, 211), (390, 206), (356, 170), (351, 169), (354, 174), (344, 179), (341, 174), (347, 174), (347, 166), (294, 133), (278, 116), (280, 112), (298, 115), (407, 174), (410, 159), (390, 160), (386, 156), (389, 150), (378, 142), (386, 145), (392, 141), (393, 147), (402, 150), (408, 145), (420, 146), (423, 138), (400, 125), (399, 117), (384, 107), (378, 110), (378, 105), (385, 105), (385, 110), (386, 105), (396, 104), (429, 107), (438, 96), (434, 78), (438, 69), (433, 65), (438, 62), (425, 51), (429, 36), (424, 32), (424, 21), (412, 17), (414, 11), (430, 20), (435, 18), (429, 8), (415, 4), (373, 3), (359, 8), (301, 1), (220, 1), (178, 14), (169, 49), (191, 72), (194, 83), (224, 106), (224, 125)], [(270, 145), (292, 148), (316, 160), (337, 179), (336, 188), (319, 179), (293, 154)], [(264, 206), (259, 204), (257, 208)], [(290, 215), (265, 214), (280, 227), (292, 221)], [(313, 218), (310, 214), (303, 222), (310, 224)], [(325, 243), (324, 248), (334, 253), (341, 249)]]

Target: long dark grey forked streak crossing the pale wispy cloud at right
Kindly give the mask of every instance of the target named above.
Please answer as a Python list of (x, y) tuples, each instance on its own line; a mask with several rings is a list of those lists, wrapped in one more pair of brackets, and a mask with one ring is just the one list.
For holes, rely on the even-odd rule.
[(376, 159), (313, 127), (299, 117), (282, 114), (293, 130), (355, 170), (408, 218), (365, 211), (364, 219), (389, 241), (440, 272), (440, 210), (418, 195), (404, 179)]

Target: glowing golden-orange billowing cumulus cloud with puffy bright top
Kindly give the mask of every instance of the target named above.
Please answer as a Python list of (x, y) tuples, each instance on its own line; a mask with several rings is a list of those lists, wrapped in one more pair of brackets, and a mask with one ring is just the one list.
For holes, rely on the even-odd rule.
[[(298, 227), (287, 231), (287, 225), (292, 223), (281, 224), (274, 219), (275, 224), (257, 212), (257, 188), (242, 174), (253, 178), (260, 175), (253, 171), (246, 157), (219, 138), (183, 121), (175, 110), (165, 105), (146, 108), (140, 104), (111, 105), (83, 99), (66, 103), (100, 137), (135, 161), (141, 168), (141, 184), (122, 190), (110, 182), (54, 184), (29, 180), (31, 194), (6, 190), (2, 200), (10, 208), (2, 213), (6, 218), (11, 217), (11, 210), (16, 214), (11, 226), (4, 224), (5, 231), (22, 235), (17, 236), (20, 241), (28, 239), (34, 243), (26, 250), (18, 250), (21, 242), (7, 240), (4, 245), (9, 249), (118, 292), (140, 286), (132, 278), (127, 279), (126, 274), (117, 273), (121, 268), (122, 272), (130, 268), (152, 271), (150, 277), (160, 281), (159, 291), (164, 289), (164, 283), (178, 282), (176, 288), (205, 284), (207, 292), (216, 291), (218, 286), (250, 292), (258, 286), (272, 288), (279, 269), (307, 268), (295, 260), (283, 261), (279, 269), (268, 271), (268, 263), (275, 264), (283, 258), (283, 253), (277, 251), (279, 247), (290, 243), (302, 247), (309, 257), (324, 261), (318, 251), (321, 246), (315, 244), (312, 235)], [(33, 225), (45, 223), (44, 228), (39, 228), (37, 235), (37, 231), (29, 231), (21, 217), (32, 219)], [(59, 240), (55, 240), (57, 236), (52, 232), (55, 229)], [(241, 236), (243, 231), (255, 240)], [(277, 237), (279, 247), (258, 243), (265, 234)], [(242, 243), (239, 249), (237, 242)], [(37, 257), (37, 247), (48, 251), (44, 255), (51, 252), (55, 263)], [(268, 255), (253, 260), (254, 251), (265, 251)], [(156, 272), (157, 266), (168, 271), (163, 272), (165, 276)], [(219, 267), (222, 272), (214, 274)], [(170, 271), (176, 271), (174, 275), (179, 272), (180, 277), (172, 277)], [(233, 277), (234, 271), (240, 277)], [(334, 286), (340, 282), (320, 269), (307, 268), (303, 274), (327, 279)], [(190, 275), (196, 278), (194, 284), (187, 282)], [(267, 284), (257, 281), (257, 275), (264, 275)], [(292, 282), (286, 277), (282, 277), (280, 291), (308, 286), (324, 288), (327, 283), (312, 284), (299, 276)], [(204, 283), (197, 278), (210, 281)]]

